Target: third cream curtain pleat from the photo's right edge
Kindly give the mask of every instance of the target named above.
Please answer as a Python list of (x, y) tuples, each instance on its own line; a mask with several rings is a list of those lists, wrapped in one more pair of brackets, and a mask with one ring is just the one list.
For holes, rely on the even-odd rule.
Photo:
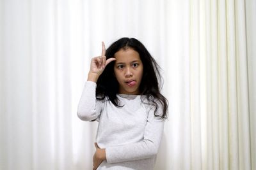
[(227, 1), (228, 129), (230, 169), (239, 169), (237, 116), (236, 22), (234, 1)]

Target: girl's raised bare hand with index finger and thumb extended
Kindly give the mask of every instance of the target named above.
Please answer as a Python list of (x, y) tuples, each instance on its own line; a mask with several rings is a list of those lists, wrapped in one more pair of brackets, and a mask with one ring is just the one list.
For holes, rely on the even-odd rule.
[(88, 74), (88, 81), (97, 82), (100, 74), (103, 73), (105, 67), (109, 64), (109, 62), (112, 62), (113, 60), (116, 60), (116, 59), (109, 58), (108, 60), (106, 60), (106, 48), (105, 48), (104, 42), (102, 42), (101, 56), (92, 58), (90, 71)]

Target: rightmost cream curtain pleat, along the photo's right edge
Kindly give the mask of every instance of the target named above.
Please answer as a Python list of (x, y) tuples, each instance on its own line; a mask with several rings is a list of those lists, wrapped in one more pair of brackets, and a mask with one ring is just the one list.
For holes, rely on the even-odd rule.
[(249, 100), (249, 123), (250, 123), (250, 155), (252, 169), (256, 169), (256, 1), (244, 1), (245, 22), (246, 22), (246, 59), (248, 78), (248, 100)]

